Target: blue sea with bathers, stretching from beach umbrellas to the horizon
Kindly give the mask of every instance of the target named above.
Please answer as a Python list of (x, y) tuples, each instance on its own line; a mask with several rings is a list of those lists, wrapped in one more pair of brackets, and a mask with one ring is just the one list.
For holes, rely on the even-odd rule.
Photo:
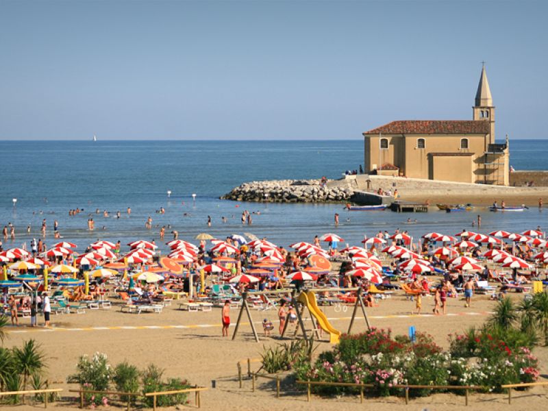
[[(516, 170), (547, 169), (548, 140), (512, 140), (510, 164)], [(127, 243), (155, 240), (159, 245), (179, 238), (197, 242), (206, 232), (216, 238), (253, 234), (288, 247), (296, 241), (334, 232), (345, 243), (358, 245), (379, 231), (408, 230), (414, 238), (436, 231), (456, 234), (482, 216), (480, 232), (494, 229), (523, 231), (547, 227), (548, 210), (516, 213), (348, 212), (342, 204), (273, 204), (221, 200), (221, 195), (243, 182), (266, 179), (338, 178), (363, 164), (363, 141), (356, 140), (237, 140), (237, 141), (0, 141), (0, 227), (12, 223), (15, 240), (4, 249), (21, 247), (40, 238), (47, 222), (45, 243), (53, 238), (57, 220), (62, 240), (78, 250), (97, 239)], [(194, 195), (194, 196), (193, 196)], [(127, 214), (127, 208), (131, 214)], [(69, 210), (82, 210), (69, 216)], [(165, 213), (158, 210), (164, 208)], [(109, 216), (103, 216), (104, 210)], [(242, 225), (248, 210), (252, 225)], [(120, 218), (116, 218), (116, 212)], [(334, 225), (334, 214), (340, 224)], [(151, 216), (152, 229), (145, 228)], [(208, 227), (208, 216), (212, 219)], [(223, 220), (223, 217), (225, 220)], [(87, 227), (94, 219), (95, 231)], [(408, 219), (411, 219), (409, 222)], [(415, 221), (416, 219), (416, 221)], [(223, 222), (225, 221), (225, 222)], [(160, 227), (166, 227), (164, 242)], [(27, 233), (27, 227), (30, 232)], [(167, 247), (160, 247), (167, 251)]]

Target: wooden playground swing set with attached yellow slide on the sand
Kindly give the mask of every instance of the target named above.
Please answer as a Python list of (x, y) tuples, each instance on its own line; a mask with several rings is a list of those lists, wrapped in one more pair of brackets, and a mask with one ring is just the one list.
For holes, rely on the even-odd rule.
[[(295, 314), (297, 315), (297, 327), (295, 327), (295, 332), (292, 334), (292, 339), (297, 338), (297, 334), (299, 333), (299, 329), (301, 330), (303, 339), (308, 341), (310, 339), (310, 334), (315, 333), (316, 334), (316, 340), (320, 339), (319, 336), (319, 329), (315, 325), (318, 325), (323, 329), (323, 331), (327, 332), (329, 334), (329, 343), (336, 344), (338, 343), (338, 340), (340, 338), (340, 331), (338, 329), (335, 329), (331, 323), (327, 320), (327, 317), (323, 313), (323, 311), (319, 308), (319, 306), (316, 303), (316, 292), (332, 292), (332, 291), (345, 291), (345, 292), (356, 292), (356, 302), (353, 306), (352, 316), (350, 319), (350, 324), (348, 327), (347, 334), (350, 334), (352, 331), (352, 327), (354, 324), (354, 320), (356, 319), (356, 315), (358, 314), (358, 308), (361, 308), (363, 318), (365, 320), (367, 329), (370, 329), (369, 326), (369, 319), (367, 318), (367, 313), (365, 310), (365, 304), (362, 297), (362, 288), (354, 287), (354, 288), (310, 288), (306, 289), (303, 288), (297, 295), (297, 290), (269, 290), (269, 291), (249, 291), (249, 292), (243, 292), (242, 294), (242, 306), (240, 307), (240, 312), (238, 314), (238, 320), (236, 321), (236, 326), (234, 327), (234, 334), (232, 334), (232, 340), (236, 339), (236, 336), (238, 335), (238, 331), (240, 329), (240, 324), (242, 322), (242, 316), (244, 312), (247, 314), (247, 319), (249, 319), (249, 324), (251, 325), (251, 331), (253, 332), (253, 337), (255, 338), (256, 342), (258, 343), (260, 341), (255, 323), (253, 323), (253, 317), (251, 316), (251, 310), (249, 310), (249, 304), (247, 303), (248, 297), (254, 297), (254, 296), (279, 296), (279, 295), (286, 295), (290, 297), (290, 305), (295, 307)], [(305, 319), (303, 317), (303, 314), (305, 314), (305, 310), (308, 310), (308, 314), (310, 320), (312, 321), (312, 324), (314, 327), (312, 329), (306, 329), (305, 327)], [(314, 321), (315, 320), (315, 321)], [(282, 331), (282, 338), (286, 335), (286, 330), (288, 327), (288, 324), (290, 321), (288, 319), (285, 322), (284, 329)]]

